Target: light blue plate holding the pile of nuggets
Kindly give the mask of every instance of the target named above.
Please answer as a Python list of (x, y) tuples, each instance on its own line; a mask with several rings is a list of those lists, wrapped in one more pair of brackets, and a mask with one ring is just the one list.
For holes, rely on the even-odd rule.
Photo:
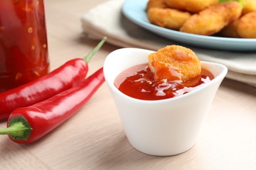
[(173, 41), (218, 50), (256, 51), (256, 39), (236, 39), (195, 35), (150, 24), (146, 15), (147, 3), (148, 0), (126, 0), (123, 4), (122, 12), (126, 18), (131, 20), (131, 22)]

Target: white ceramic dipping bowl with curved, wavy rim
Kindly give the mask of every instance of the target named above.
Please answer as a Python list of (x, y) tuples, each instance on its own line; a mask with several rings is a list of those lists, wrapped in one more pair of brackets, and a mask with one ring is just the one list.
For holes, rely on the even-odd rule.
[(152, 52), (139, 48), (115, 50), (104, 61), (104, 76), (131, 145), (140, 152), (155, 156), (180, 154), (196, 143), (227, 68), (201, 61), (202, 68), (215, 78), (193, 92), (171, 99), (146, 101), (120, 92), (114, 86), (116, 76), (129, 67), (147, 63), (148, 54)]

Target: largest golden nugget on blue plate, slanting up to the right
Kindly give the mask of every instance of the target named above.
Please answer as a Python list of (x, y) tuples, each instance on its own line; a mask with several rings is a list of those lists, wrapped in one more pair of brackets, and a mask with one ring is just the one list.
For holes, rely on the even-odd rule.
[(242, 8), (242, 4), (236, 1), (213, 5), (188, 18), (180, 31), (198, 35), (213, 35), (230, 22), (237, 20), (241, 16)]

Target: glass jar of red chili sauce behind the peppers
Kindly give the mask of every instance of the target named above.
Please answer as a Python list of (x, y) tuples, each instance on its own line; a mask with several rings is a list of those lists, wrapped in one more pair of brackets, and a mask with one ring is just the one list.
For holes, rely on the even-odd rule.
[(0, 92), (49, 71), (43, 0), (0, 1)]

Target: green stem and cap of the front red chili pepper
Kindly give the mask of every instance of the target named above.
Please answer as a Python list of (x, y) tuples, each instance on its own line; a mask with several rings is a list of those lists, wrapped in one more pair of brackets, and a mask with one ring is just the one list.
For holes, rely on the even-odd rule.
[(26, 133), (26, 131), (31, 131), (31, 127), (26, 127), (22, 122), (15, 122), (9, 127), (0, 129), (0, 135), (11, 135), (22, 137)]

